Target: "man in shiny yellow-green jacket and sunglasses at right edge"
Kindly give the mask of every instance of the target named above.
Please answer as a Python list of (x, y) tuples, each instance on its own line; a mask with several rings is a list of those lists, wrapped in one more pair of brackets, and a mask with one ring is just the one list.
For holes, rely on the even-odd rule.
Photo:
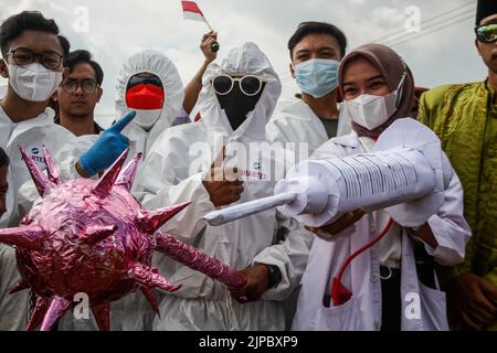
[(478, 1), (475, 32), (488, 78), (429, 90), (419, 116), (440, 136), (461, 178), (465, 216), (474, 233), (465, 263), (443, 269), (453, 329), (496, 330), (497, 1)]

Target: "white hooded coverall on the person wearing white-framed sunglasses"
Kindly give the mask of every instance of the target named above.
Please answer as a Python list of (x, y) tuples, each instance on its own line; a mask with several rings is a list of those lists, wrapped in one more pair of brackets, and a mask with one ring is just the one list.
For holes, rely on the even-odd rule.
[[(234, 132), (210, 85), (210, 78), (220, 73), (250, 73), (266, 79), (264, 93), (254, 111)], [(212, 63), (203, 76), (203, 89), (199, 98), (202, 120), (171, 128), (160, 137), (140, 170), (137, 195), (144, 206), (150, 210), (192, 201), (192, 205), (169, 221), (163, 231), (178, 235), (236, 269), (253, 264), (277, 266), (282, 281), (267, 290), (261, 301), (241, 306), (231, 299), (224, 285), (158, 255), (155, 265), (159, 271), (172, 284), (182, 287), (175, 293), (161, 295), (161, 318), (156, 317), (154, 330), (284, 329), (281, 300), (299, 282), (310, 246), (309, 234), (297, 222), (283, 217), (275, 210), (220, 227), (211, 227), (202, 220), (203, 215), (215, 210), (202, 183), (213, 158), (230, 141), (245, 146), (265, 141), (265, 125), (279, 94), (281, 83), (276, 73), (253, 43), (231, 51), (221, 65)], [(202, 146), (207, 148), (193, 151), (191, 147), (195, 142), (203, 142)], [(265, 171), (274, 163), (273, 159), (263, 158), (261, 170)], [(254, 170), (253, 165), (241, 165), (239, 162), (233, 165)], [(274, 181), (245, 182), (241, 202), (271, 195), (274, 184)], [(283, 242), (276, 239), (278, 231), (283, 231)], [(136, 321), (137, 318), (129, 318), (128, 324), (138, 329)]]

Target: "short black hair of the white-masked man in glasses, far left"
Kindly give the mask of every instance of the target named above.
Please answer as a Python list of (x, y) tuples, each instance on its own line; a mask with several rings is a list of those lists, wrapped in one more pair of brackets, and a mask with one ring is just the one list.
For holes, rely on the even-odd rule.
[(40, 11), (23, 11), (11, 15), (0, 25), (0, 49), (3, 56), (10, 50), (10, 42), (19, 38), (24, 31), (41, 31), (57, 35), (64, 51), (64, 57), (68, 55), (71, 44), (67, 39), (59, 35), (59, 26), (54, 20), (45, 19)]

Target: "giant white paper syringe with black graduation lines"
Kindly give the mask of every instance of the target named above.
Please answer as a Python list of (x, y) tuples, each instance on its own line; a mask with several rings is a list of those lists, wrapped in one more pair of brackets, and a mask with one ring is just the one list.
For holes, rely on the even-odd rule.
[(213, 226), (269, 208), (306, 225), (324, 226), (359, 207), (385, 208), (402, 226), (424, 224), (441, 207), (451, 168), (441, 142), (413, 119), (400, 119), (377, 141), (374, 152), (297, 164), (275, 195), (205, 215)]

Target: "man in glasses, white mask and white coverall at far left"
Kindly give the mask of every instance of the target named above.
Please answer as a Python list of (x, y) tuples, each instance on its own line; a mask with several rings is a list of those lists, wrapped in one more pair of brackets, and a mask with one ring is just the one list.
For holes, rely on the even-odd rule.
[[(74, 136), (53, 122), (54, 113), (47, 109), (51, 95), (63, 76), (63, 61), (70, 43), (59, 35), (53, 20), (40, 12), (22, 12), (7, 19), (0, 26), (0, 75), (9, 79), (6, 97), (0, 101), (0, 148), (10, 159), (7, 212), (0, 228), (17, 226), (19, 188), (30, 180), (21, 159), (19, 146), (44, 169), (42, 146), (56, 151)], [(0, 245), (0, 331), (23, 330), (29, 308), (29, 291), (9, 296), (20, 280), (15, 266), (15, 250)], [(10, 271), (7, 269), (11, 268)]]

